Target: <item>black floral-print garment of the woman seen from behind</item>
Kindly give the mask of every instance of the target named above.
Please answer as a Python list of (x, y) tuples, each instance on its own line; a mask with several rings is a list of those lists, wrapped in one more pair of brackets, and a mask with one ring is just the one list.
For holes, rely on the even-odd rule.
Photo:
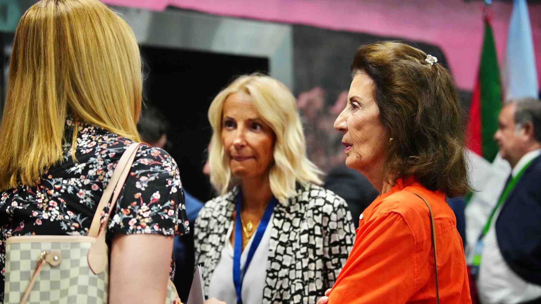
[[(65, 123), (64, 157), (33, 186), (0, 193), (0, 303), (4, 295), (5, 240), (15, 235), (87, 235), (97, 204), (116, 164), (132, 140), (99, 127), (78, 124), (76, 162)], [(160, 148), (139, 147), (109, 220), (114, 234), (188, 233), (184, 193), (175, 160)], [(108, 207), (105, 208), (108, 211)], [(102, 221), (105, 213), (102, 211)], [(174, 276), (171, 260), (170, 276)]]

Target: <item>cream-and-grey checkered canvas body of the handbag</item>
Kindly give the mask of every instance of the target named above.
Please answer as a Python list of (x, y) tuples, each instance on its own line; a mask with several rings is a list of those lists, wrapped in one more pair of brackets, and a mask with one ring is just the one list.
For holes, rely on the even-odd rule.
[[(60, 249), (62, 261), (42, 266), (28, 304), (106, 304), (108, 273), (94, 274), (88, 267), (90, 242), (24, 242), (6, 245), (4, 304), (21, 301), (44, 250)], [(107, 267), (106, 267), (107, 269)]]

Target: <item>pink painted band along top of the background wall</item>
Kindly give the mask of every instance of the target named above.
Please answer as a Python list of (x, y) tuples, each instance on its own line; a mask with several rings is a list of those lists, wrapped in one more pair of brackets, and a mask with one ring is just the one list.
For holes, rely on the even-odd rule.
[[(457, 85), (471, 90), (483, 37), (482, 2), (463, 0), (102, 0), (105, 3), (163, 10), (167, 5), (265, 21), (365, 32), (438, 45), (447, 56)], [(505, 54), (512, 3), (494, 2), (492, 29), (500, 58)], [(541, 4), (530, 4), (537, 75), (541, 81)], [(353, 54), (352, 54), (353, 56)], [(541, 85), (539, 85), (541, 87)]]

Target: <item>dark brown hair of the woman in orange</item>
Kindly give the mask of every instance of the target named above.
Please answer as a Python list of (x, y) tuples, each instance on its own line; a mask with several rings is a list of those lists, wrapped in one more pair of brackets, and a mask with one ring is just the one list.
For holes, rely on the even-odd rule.
[(456, 197), (470, 190), (463, 110), (450, 73), (426, 57), (404, 43), (366, 44), (357, 50), (351, 70), (373, 80), (381, 123), (393, 138), (385, 176), (413, 175), (429, 190)]

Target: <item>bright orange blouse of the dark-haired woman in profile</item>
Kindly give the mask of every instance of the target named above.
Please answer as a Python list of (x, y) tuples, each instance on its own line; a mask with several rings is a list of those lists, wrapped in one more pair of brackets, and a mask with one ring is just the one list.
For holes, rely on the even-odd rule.
[(471, 303), (464, 248), (445, 194), (410, 177), (398, 179), (362, 213), (329, 304), (436, 303), (430, 214), (413, 192), (430, 204), (436, 223), (440, 303)]

